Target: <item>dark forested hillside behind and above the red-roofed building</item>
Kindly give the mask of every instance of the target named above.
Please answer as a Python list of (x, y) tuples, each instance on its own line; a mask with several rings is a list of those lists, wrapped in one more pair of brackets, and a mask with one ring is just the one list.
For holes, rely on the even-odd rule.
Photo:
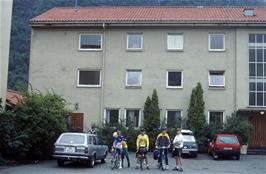
[[(78, 6), (265, 6), (266, 0), (77, 0)], [(27, 86), (30, 51), (29, 19), (75, 0), (13, 0), (8, 88)]]

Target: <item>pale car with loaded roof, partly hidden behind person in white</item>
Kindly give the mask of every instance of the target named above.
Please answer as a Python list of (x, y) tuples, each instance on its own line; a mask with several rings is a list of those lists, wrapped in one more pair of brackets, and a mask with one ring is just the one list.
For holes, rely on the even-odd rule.
[(191, 157), (198, 156), (198, 144), (191, 130), (182, 129), (181, 133), (183, 135), (183, 149), (182, 154), (187, 154)]

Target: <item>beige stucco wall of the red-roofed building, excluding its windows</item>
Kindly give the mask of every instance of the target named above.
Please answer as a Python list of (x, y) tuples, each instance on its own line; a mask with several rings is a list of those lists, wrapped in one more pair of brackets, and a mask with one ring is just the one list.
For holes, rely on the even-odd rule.
[[(129, 32), (143, 33), (143, 51), (126, 51)], [(166, 49), (167, 33), (173, 32), (184, 35), (184, 50), (181, 52)], [(208, 51), (210, 32), (225, 33), (225, 52)], [(101, 51), (78, 51), (81, 33), (105, 33), (105, 56)], [(78, 102), (79, 109), (75, 112), (84, 113), (85, 128), (102, 120), (102, 88), (102, 109), (120, 108), (120, 118), (124, 117), (126, 108), (143, 109), (146, 97), (153, 89), (158, 91), (162, 117), (167, 109), (182, 110), (183, 117), (186, 117), (192, 88), (200, 82), (204, 90), (206, 117), (208, 110), (220, 110), (230, 115), (235, 109), (248, 105), (248, 33), (250, 30), (229, 27), (106, 28), (105, 31), (100, 28), (34, 28), (29, 81), (34, 89), (59, 93), (72, 108)], [(102, 69), (103, 57), (104, 86), (77, 87), (77, 69)], [(142, 70), (140, 89), (125, 87), (127, 69)], [(166, 71), (169, 69), (183, 70), (182, 89), (166, 88)], [(224, 89), (209, 88), (209, 70), (225, 71)]]

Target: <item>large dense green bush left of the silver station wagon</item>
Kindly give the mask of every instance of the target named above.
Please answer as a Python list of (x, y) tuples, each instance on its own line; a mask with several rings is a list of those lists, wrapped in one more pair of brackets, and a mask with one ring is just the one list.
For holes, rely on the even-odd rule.
[(25, 93), (14, 111), (1, 114), (1, 151), (11, 156), (50, 156), (54, 142), (67, 130), (67, 112), (64, 99), (56, 94)]

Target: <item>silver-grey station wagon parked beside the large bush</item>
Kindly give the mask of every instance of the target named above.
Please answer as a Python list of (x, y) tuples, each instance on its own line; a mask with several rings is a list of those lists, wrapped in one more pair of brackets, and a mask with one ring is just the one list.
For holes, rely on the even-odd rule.
[(53, 157), (58, 166), (65, 161), (85, 162), (93, 167), (96, 160), (105, 163), (108, 147), (99, 143), (95, 134), (63, 133), (55, 143)]

